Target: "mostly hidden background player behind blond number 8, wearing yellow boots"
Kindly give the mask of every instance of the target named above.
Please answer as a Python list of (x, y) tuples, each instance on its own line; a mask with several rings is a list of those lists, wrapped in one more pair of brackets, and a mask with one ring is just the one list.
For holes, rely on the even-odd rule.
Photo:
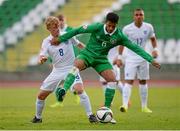
[[(70, 26), (67, 25), (67, 23), (66, 23), (66, 17), (65, 17), (63, 14), (59, 14), (59, 15), (57, 16), (57, 18), (59, 19), (59, 22), (60, 22), (59, 27), (60, 27), (60, 31), (61, 31), (61, 32), (68, 32), (68, 31), (70, 31), (70, 30), (73, 29), (72, 27), (70, 27)], [(74, 39), (76, 40), (77, 43), (83, 44), (83, 43), (81, 43), (78, 39), (76, 39), (76, 37), (74, 37)], [(73, 47), (74, 47), (74, 46), (73, 46)], [(74, 50), (75, 50), (75, 47), (74, 47)], [(76, 55), (76, 54), (75, 54), (75, 55)], [(76, 103), (79, 104), (79, 103), (80, 103), (80, 98), (79, 98), (79, 96), (77, 95), (76, 91), (72, 91), (72, 92), (73, 92), (74, 96), (76, 97), (76, 98), (75, 98)], [(57, 101), (57, 102), (55, 102), (54, 104), (50, 105), (50, 107), (52, 107), (52, 108), (62, 107), (62, 106), (63, 106), (63, 102), (59, 102), (59, 101)]]

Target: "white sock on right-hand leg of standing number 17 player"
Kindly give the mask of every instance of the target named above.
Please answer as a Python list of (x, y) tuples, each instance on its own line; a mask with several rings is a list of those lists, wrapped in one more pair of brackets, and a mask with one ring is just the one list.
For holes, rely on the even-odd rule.
[(141, 106), (142, 108), (147, 107), (147, 98), (148, 98), (148, 86), (147, 84), (139, 84), (139, 93), (141, 97)]

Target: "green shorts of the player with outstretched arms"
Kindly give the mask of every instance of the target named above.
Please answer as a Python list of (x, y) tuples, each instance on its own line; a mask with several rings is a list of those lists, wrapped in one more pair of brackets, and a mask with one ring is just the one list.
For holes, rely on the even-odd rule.
[(82, 50), (77, 58), (83, 60), (87, 68), (93, 67), (98, 73), (113, 69), (106, 56), (96, 56), (88, 50)]

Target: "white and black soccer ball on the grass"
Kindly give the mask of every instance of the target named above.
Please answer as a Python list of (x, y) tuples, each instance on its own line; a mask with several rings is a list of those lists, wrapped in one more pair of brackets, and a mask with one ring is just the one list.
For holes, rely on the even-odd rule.
[(97, 110), (96, 117), (101, 123), (108, 123), (113, 118), (113, 112), (107, 107), (101, 107)]

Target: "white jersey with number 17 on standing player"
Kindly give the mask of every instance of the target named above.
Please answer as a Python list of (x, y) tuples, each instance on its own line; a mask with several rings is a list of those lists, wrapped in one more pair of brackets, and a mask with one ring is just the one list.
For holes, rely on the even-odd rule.
[[(143, 49), (145, 49), (146, 41), (149, 38), (155, 36), (153, 26), (146, 22), (143, 22), (140, 28), (138, 28), (134, 22), (129, 25), (126, 25), (123, 28), (123, 33), (126, 34), (132, 42), (135, 42)], [(145, 60), (133, 51), (127, 49), (126, 61), (142, 62)]]

